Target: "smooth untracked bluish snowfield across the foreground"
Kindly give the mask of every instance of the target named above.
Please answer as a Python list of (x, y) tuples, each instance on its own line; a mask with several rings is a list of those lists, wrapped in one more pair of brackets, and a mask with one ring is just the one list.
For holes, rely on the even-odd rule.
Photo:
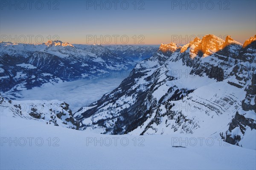
[(0, 134), (0, 169), (256, 169), (256, 150), (217, 135), (102, 135), (3, 114)]

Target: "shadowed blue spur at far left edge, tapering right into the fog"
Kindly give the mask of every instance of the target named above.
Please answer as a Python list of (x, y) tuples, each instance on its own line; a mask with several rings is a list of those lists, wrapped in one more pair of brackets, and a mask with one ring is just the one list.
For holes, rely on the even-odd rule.
[(24, 58), (0, 55), (0, 92), (17, 96), (17, 91), (63, 81), (47, 70), (43, 71), (24, 61)]

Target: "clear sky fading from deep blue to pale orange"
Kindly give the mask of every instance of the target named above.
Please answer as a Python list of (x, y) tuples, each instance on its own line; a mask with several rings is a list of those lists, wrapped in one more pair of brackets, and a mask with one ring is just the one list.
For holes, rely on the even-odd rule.
[[(95, 3), (99, 6), (95, 6)], [(129, 7), (126, 9), (127, 3)], [(41, 4), (44, 5), (42, 8)], [(100, 38), (102, 35), (103, 39), (110, 35), (110, 44), (114, 44), (113, 35), (119, 35), (117, 43), (120, 44), (120, 37), (127, 35), (128, 44), (134, 44), (133, 35), (136, 35), (136, 43), (139, 40), (145, 44), (170, 43), (174, 38), (182, 37), (183, 40), (179, 38), (176, 43), (185, 44), (193, 35), (213, 34), (219, 37), (231, 35), (244, 43), (244, 40), (256, 34), (255, 0), (204, 0), (202, 3), (198, 0), (143, 0), (136, 1), (136, 7), (134, 0), (110, 0), (108, 3), (94, 0), (34, 0), (31, 6), (27, 0), (1, 0), (0, 5), (0, 41), (6, 35), (42, 35), (46, 42), (47, 35), (58, 35), (63, 42), (93, 44), (93, 36)], [(57, 10), (53, 10), (54, 6)], [(144, 39), (139, 35), (143, 35)], [(93, 40), (89, 41), (88, 36), (92, 36)], [(108, 37), (105, 41), (109, 42)], [(26, 43), (29, 43), (29, 37)], [(35, 43), (35, 37), (32, 37), (32, 43)]]

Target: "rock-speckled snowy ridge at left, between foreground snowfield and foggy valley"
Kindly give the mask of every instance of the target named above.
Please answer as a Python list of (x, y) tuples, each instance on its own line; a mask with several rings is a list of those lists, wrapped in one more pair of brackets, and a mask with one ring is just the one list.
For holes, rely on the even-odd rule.
[[(57, 100), (14, 101), (6, 100), (0, 95), (0, 109), (1, 118), (23, 118), (71, 129), (79, 128), (79, 123), (73, 118), (69, 105)], [(12, 124), (12, 121), (9, 124)]]

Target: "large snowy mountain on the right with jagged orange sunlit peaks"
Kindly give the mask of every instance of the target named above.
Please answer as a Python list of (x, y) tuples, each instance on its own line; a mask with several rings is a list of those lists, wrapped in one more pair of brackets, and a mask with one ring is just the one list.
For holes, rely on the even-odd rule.
[[(81, 130), (96, 133), (217, 134), (231, 144), (256, 149), (255, 94), (247, 94), (255, 88), (254, 43), (244, 47), (230, 36), (222, 40), (206, 35), (185, 46), (162, 44), (119, 87), (74, 116)], [(243, 112), (249, 101), (253, 107)], [(229, 126), (236, 114), (250, 119), (233, 130)], [(228, 129), (233, 131), (226, 138)]]

